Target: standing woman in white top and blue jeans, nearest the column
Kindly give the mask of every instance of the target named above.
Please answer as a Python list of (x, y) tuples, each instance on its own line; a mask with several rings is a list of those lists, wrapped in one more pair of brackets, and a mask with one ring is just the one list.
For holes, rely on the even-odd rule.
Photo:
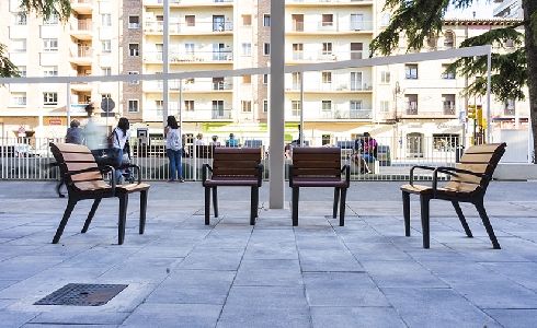
[[(179, 176), (179, 180), (184, 183), (183, 167), (181, 166), (181, 156), (183, 152), (183, 144), (181, 142), (181, 133), (179, 132), (179, 125), (175, 116), (168, 116), (168, 126), (164, 128), (165, 137), (165, 153), (168, 160), (170, 160), (170, 179), (169, 183), (175, 181), (175, 177)], [(178, 175), (175, 175), (178, 173)]]

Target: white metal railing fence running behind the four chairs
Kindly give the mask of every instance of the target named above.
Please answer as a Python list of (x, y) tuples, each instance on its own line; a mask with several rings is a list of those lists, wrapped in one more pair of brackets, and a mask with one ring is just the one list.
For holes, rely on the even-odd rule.
[[(353, 140), (305, 140), (310, 147), (340, 147), (342, 163), (351, 165), (353, 180), (405, 180), (412, 165), (454, 166), (462, 149), (459, 138), (427, 139), (411, 137), (405, 140), (397, 138), (376, 138), (378, 142), (378, 161), (368, 163), (370, 174), (359, 172), (352, 161)], [(13, 138), (0, 139), (0, 178), (1, 179), (58, 179), (58, 167), (49, 151), (49, 142), (62, 142), (62, 139)], [(201, 180), (204, 163), (212, 163), (213, 148), (209, 138), (203, 140), (204, 147), (194, 147), (194, 140), (184, 140), (182, 159), (183, 177), (186, 180)], [(264, 179), (270, 179), (270, 139), (239, 138), (241, 147), (259, 147), (260, 156), (265, 166)], [(220, 140), (226, 147), (226, 140)], [(330, 143), (332, 142), (332, 143)], [(167, 180), (170, 172), (165, 155), (163, 138), (151, 137), (144, 144), (136, 138), (130, 140), (132, 161), (141, 168), (144, 180)], [(294, 144), (285, 148), (285, 169), (293, 161)], [(430, 172), (419, 173), (418, 178), (427, 178)], [(287, 178), (287, 173), (285, 174)]]

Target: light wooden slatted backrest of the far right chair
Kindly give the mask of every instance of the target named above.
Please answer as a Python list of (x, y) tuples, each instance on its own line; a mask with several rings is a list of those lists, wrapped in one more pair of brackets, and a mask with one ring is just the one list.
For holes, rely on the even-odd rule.
[(487, 188), (492, 174), (498, 166), (498, 163), (505, 153), (506, 143), (487, 143), (478, 144), (468, 148), (465, 154), (460, 157), (460, 163), (457, 168), (470, 171), (473, 173), (485, 174), (489, 178), (483, 178), (470, 174), (456, 174), (452, 176), (446, 188), (460, 189), (464, 186), (465, 190)]

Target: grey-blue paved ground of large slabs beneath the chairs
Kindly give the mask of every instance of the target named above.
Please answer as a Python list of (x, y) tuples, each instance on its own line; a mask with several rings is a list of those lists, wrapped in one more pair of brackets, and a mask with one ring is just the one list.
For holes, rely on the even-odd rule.
[[(492, 181), (485, 209), (502, 249), (462, 204), (433, 201), (422, 248), (418, 198), (404, 236), (401, 183), (353, 183), (345, 226), (332, 190), (301, 190), (299, 225), (268, 209), (249, 225), (249, 188), (220, 188), (220, 218), (203, 219), (201, 183), (150, 183), (146, 233), (129, 201), (117, 245), (116, 199), (85, 234), (91, 201), (50, 244), (67, 200), (53, 183), (0, 181), (1, 327), (534, 327), (537, 183)], [(128, 284), (100, 306), (34, 305), (68, 283)]]

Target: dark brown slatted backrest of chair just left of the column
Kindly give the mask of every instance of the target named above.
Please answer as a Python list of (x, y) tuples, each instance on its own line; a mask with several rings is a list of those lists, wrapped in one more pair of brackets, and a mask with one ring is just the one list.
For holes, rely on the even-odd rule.
[(217, 147), (213, 154), (213, 177), (258, 177), (261, 148)]

